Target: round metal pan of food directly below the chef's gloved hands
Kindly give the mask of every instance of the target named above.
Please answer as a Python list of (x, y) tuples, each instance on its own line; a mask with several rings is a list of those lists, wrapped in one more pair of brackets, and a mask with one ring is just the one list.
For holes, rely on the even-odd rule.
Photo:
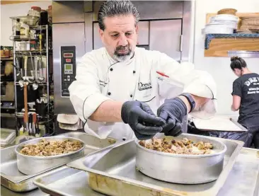
[[(164, 137), (166, 137), (164, 134), (156, 134), (156, 138)], [(210, 142), (214, 146), (213, 153), (201, 155), (170, 154), (146, 149), (139, 145), (139, 140), (136, 139), (137, 170), (151, 178), (170, 183), (200, 184), (217, 180), (223, 169), (226, 145), (212, 137), (195, 134), (181, 134), (175, 138), (168, 138), (180, 140), (184, 137), (193, 142)]]

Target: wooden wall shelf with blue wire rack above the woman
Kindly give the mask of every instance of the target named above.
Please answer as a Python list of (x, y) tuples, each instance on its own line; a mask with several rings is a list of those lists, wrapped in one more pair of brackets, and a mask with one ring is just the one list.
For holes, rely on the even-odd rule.
[[(217, 13), (207, 13), (206, 24), (211, 21), (212, 16)], [(258, 57), (259, 33), (253, 28), (242, 28), (245, 18), (258, 18), (259, 13), (240, 13), (237, 28), (232, 34), (207, 34), (205, 35), (205, 57)]]

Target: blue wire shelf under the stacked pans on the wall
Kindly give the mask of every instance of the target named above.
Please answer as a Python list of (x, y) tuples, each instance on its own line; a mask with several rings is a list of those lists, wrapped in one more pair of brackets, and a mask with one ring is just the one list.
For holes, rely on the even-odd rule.
[(213, 39), (219, 38), (259, 38), (259, 33), (207, 34), (205, 38), (205, 50), (209, 49), (209, 44)]

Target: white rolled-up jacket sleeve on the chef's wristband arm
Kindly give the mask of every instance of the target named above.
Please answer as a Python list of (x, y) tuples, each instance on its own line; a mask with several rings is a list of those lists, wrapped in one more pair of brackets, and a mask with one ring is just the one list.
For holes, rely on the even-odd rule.
[[(214, 115), (216, 113), (217, 86), (212, 76), (207, 71), (197, 70), (189, 62), (182, 64), (176, 62), (168, 55), (156, 52), (157, 71), (169, 76), (169, 81), (183, 84), (183, 93), (209, 98), (208, 102), (199, 108), (202, 113)], [(197, 111), (195, 111), (197, 113)]]

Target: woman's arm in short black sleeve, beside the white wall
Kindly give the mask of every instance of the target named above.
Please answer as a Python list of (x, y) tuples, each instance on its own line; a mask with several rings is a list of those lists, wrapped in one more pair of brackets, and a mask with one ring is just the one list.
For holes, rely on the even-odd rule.
[(234, 81), (233, 83), (233, 91), (231, 95), (233, 96), (231, 110), (235, 112), (240, 108), (241, 97), (242, 97), (242, 86), (238, 80)]

